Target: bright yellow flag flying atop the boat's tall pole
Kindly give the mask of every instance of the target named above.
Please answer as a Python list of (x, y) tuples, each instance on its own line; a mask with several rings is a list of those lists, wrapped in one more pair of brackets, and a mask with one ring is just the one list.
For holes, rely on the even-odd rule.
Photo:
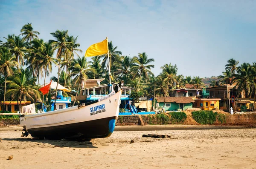
[(108, 53), (108, 38), (91, 45), (85, 52), (85, 57), (98, 56)]

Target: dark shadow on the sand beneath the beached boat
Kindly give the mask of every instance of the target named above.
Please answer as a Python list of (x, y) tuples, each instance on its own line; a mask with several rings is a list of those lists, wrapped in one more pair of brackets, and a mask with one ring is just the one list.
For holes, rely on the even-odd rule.
[(61, 139), (61, 140), (49, 140), (49, 139), (38, 139), (38, 138), (2, 138), (6, 141), (19, 141), (19, 142), (31, 142), (38, 143), (38, 146), (43, 144), (50, 144), (51, 147), (70, 147), (70, 148), (98, 148), (93, 146), (93, 143), (85, 139)]

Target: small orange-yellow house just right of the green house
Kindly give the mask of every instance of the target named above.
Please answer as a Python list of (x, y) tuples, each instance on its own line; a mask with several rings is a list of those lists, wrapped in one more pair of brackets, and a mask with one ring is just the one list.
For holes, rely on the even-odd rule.
[(202, 110), (220, 109), (221, 99), (195, 99), (197, 107), (201, 107)]

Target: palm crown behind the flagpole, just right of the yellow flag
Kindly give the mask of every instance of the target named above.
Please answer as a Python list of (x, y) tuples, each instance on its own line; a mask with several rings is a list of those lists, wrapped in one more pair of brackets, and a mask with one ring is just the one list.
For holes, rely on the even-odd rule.
[[(112, 44), (112, 41), (110, 41), (108, 42), (108, 54), (109, 54), (110, 68), (112, 68), (112, 63), (116, 61), (117, 57), (121, 55), (122, 52), (117, 51), (117, 46), (114, 47)], [(106, 63), (108, 62), (108, 54), (104, 54), (100, 56), (100, 57), (103, 57), (102, 66), (103, 67), (107, 66), (107, 68), (108, 68), (108, 64), (106, 65)]]

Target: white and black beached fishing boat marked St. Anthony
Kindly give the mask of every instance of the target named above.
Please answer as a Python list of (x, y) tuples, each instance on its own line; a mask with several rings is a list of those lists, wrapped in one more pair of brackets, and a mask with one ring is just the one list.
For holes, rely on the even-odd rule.
[(30, 134), (41, 139), (109, 137), (119, 115), (122, 86), (120, 82), (98, 100), (51, 112), (36, 113), (34, 105), (23, 106), (20, 113), (20, 125), (25, 130), (23, 136)]

